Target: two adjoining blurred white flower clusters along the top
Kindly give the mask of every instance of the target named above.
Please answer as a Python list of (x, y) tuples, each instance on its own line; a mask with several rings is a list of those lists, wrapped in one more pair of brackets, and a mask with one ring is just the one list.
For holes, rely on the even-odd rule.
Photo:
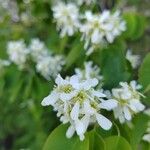
[[(79, 4), (83, 2), (80, 1)], [(86, 3), (90, 4), (92, 1)], [(56, 3), (52, 10), (57, 29), (61, 31), (60, 36), (72, 36), (76, 31), (80, 31), (88, 55), (95, 49), (114, 42), (115, 38), (126, 30), (125, 21), (119, 11), (111, 13), (104, 10), (101, 14), (86, 11), (80, 14), (75, 3), (63, 2)]]

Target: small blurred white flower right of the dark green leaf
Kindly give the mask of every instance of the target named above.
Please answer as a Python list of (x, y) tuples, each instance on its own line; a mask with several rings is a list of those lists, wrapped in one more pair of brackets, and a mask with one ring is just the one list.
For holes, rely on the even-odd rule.
[(131, 63), (131, 66), (135, 69), (140, 64), (140, 56), (133, 55), (131, 50), (128, 50), (126, 53), (126, 59)]

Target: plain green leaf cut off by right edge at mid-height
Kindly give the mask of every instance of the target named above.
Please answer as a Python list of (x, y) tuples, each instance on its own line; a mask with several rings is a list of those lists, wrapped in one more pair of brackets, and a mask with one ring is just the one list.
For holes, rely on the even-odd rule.
[(150, 53), (146, 55), (140, 69), (139, 69), (139, 82), (144, 89), (149, 89), (150, 86)]

